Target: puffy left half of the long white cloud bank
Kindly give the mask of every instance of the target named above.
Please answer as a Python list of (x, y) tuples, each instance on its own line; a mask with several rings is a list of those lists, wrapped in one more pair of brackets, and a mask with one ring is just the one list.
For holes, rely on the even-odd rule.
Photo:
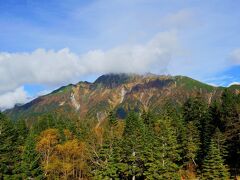
[(0, 94), (25, 83), (56, 85), (74, 77), (78, 57), (68, 49), (32, 53), (0, 53)]

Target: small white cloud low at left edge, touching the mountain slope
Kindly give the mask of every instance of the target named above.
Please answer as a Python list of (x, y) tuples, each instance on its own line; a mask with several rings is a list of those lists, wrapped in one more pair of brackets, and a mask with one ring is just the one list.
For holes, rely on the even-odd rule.
[(0, 110), (13, 107), (17, 103), (26, 103), (28, 101), (27, 93), (23, 87), (0, 95)]

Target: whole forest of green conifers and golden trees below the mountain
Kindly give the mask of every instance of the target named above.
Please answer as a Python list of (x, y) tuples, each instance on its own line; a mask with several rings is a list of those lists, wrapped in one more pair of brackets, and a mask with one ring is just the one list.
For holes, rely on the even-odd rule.
[(0, 179), (234, 179), (240, 95), (198, 93), (161, 111), (116, 108), (100, 121), (49, 112), (33, 124), (0, 116)]

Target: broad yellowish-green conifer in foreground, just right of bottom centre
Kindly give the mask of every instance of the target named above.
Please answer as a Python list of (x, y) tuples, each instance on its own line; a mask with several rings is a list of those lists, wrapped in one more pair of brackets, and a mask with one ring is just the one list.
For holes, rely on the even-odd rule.
[(147, 179), (180, 179), (179, 146), (177, 143), (176, 129), (169, 117), (158, 120), (154, 127), (155, 136), (151, 153), (148, 154), (149, 162), (146, 164), (145, 176)]

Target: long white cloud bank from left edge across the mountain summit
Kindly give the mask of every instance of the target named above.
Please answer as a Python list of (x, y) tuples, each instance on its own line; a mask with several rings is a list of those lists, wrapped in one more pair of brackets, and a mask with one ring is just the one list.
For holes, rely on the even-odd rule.
[[(0, 108), (27, 100), (24, 84), (60, 86), (82, 76), (104, 73), (167, 73), (179, 51), (177, 33), (157, 34), (145, 44), (76, 54), (68, 48), (31, 53), (0, 53)], [(9, 99), (9, 100), (8, 100)]]

